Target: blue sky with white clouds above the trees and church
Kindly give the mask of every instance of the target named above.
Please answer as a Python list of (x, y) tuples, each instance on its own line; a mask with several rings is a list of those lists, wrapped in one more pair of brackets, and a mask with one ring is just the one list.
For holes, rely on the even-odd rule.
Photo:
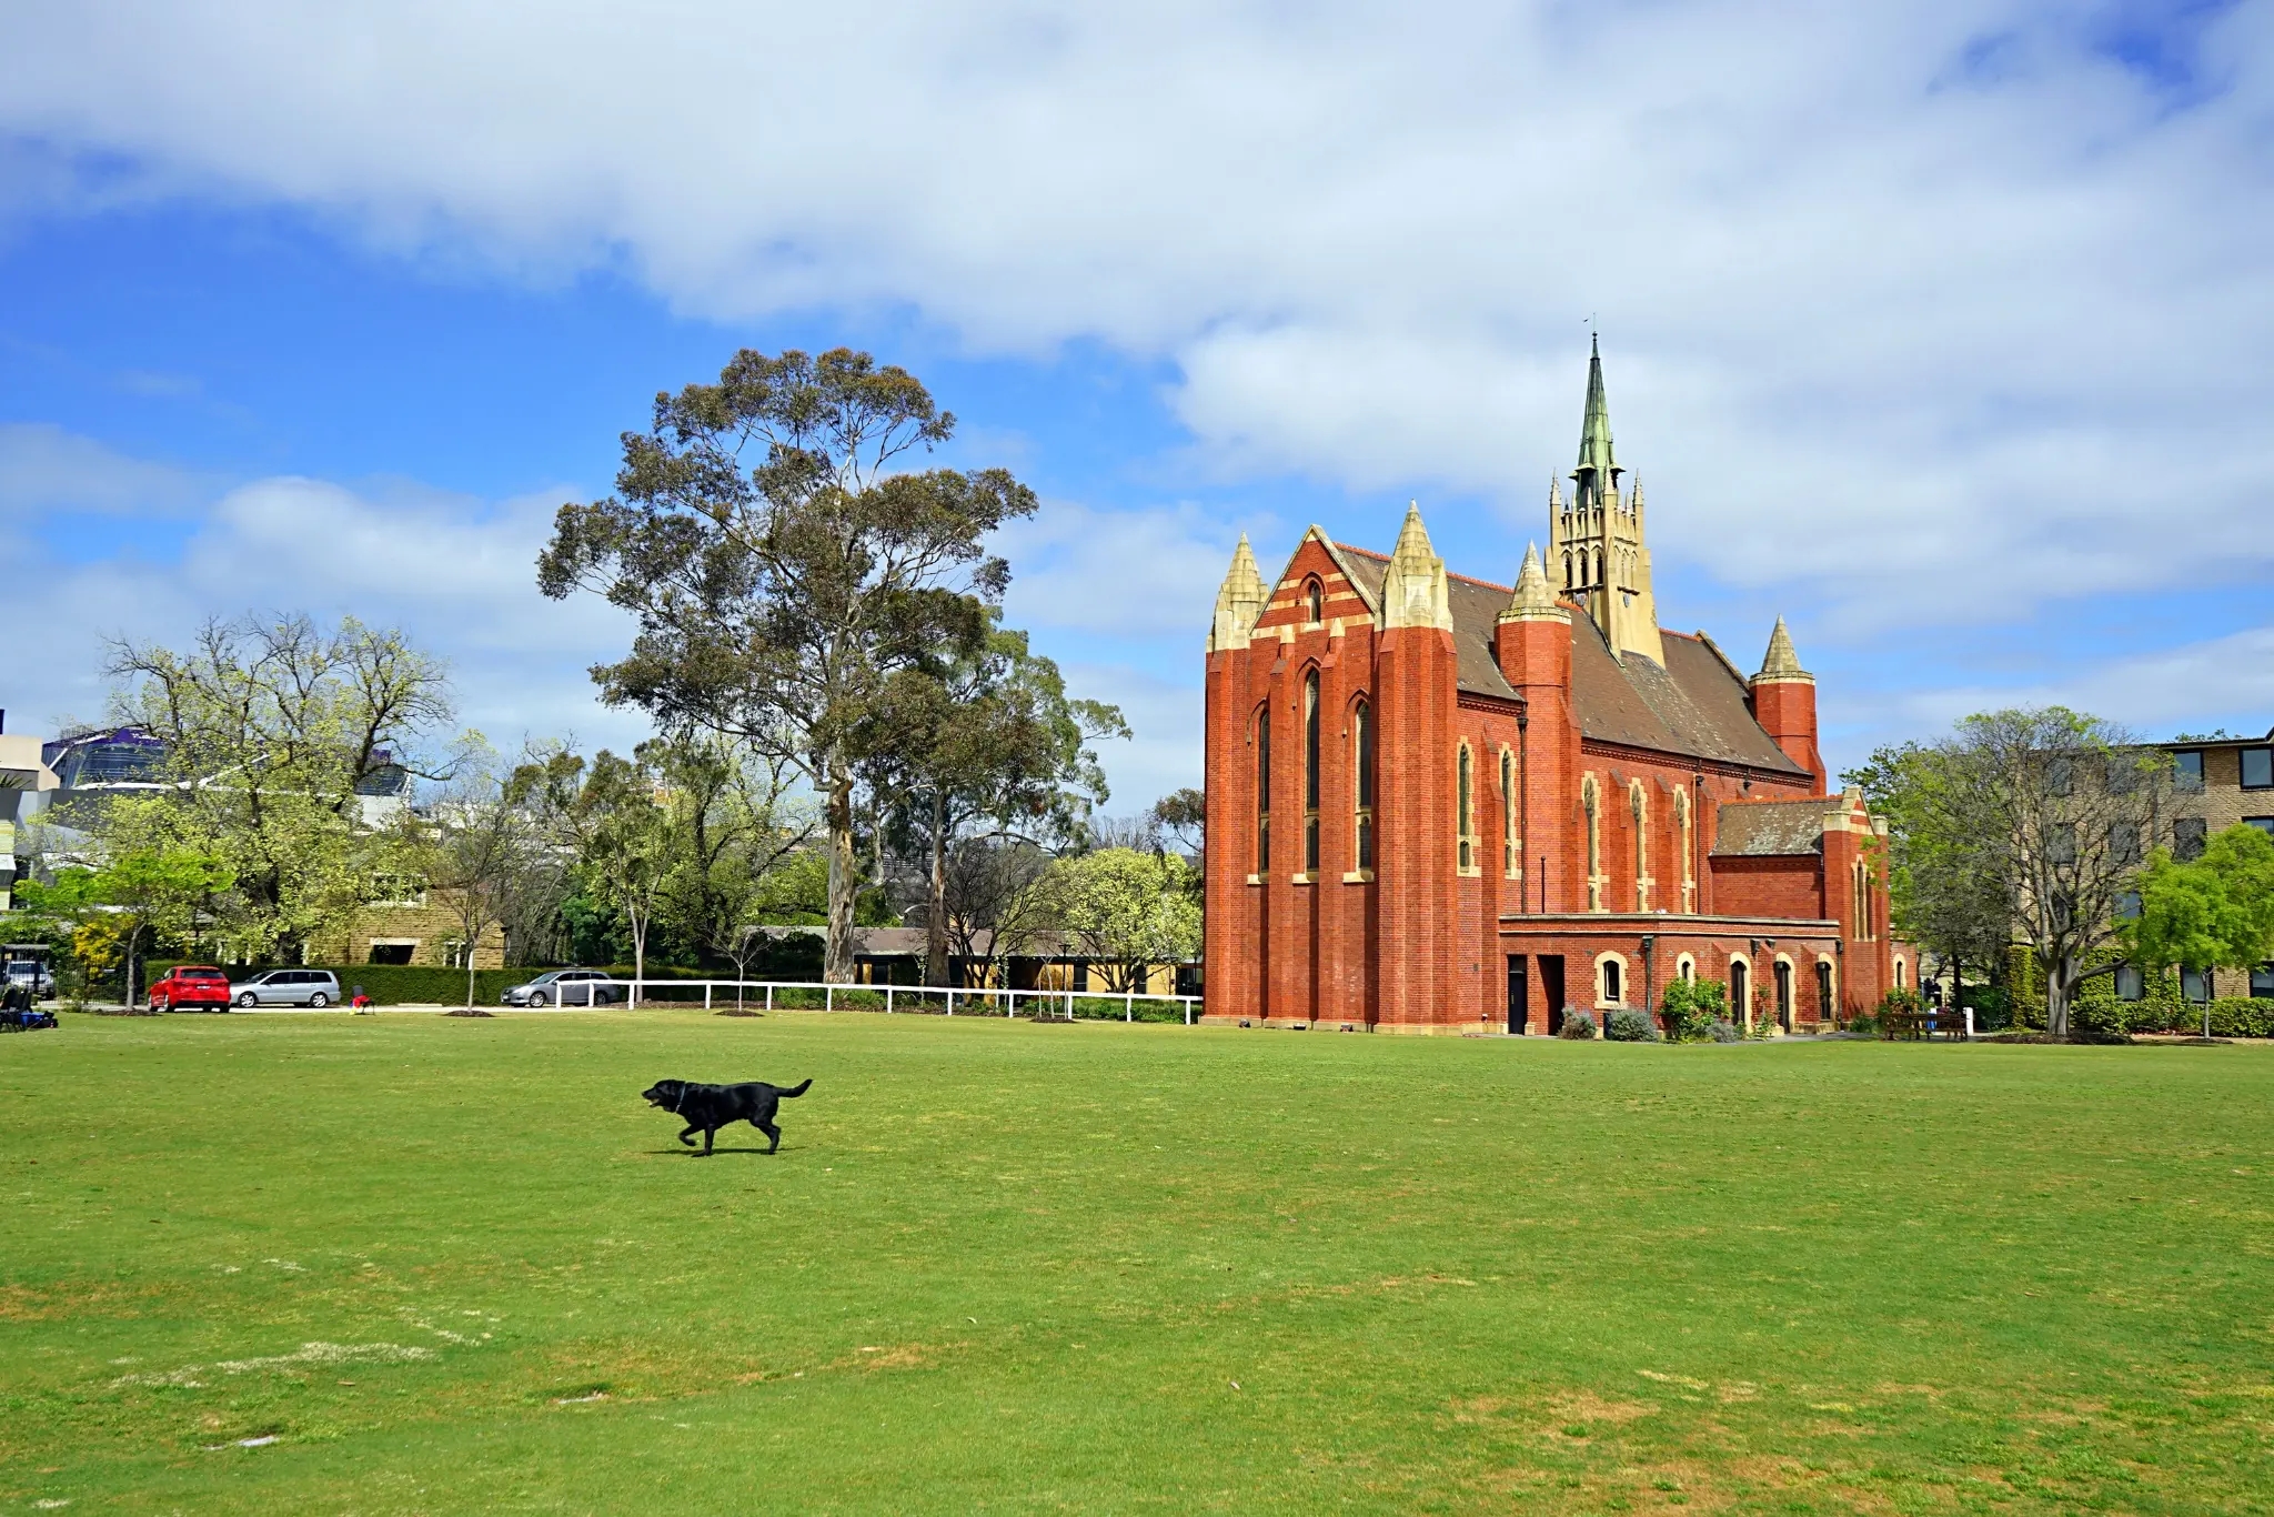
[(355, 614), (630, 744), (553, 512), (855, 346), (1007, 466), (1007, 619), (1198, 782), (1239, 532), (1510, 582), (1587, 334), (1665, 625), (1833, 769), (1969, 710), (2274, 726), (2274, 2), (0, 0), (9, 732), (105, 641)]

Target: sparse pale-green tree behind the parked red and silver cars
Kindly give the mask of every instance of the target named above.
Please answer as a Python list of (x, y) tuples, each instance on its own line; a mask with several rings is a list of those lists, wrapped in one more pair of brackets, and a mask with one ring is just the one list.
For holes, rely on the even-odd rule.
[[(186, 650), (114, 641), (118, 716), (164, 741), (155, 791), (64, 816), (111, 857), (209, 855), (234, 885), (214, 928), (248, 955), (337, 930), (402, 873), (396, 805), (425, 739), (450, 719), (448, 678), (400, 632), (352, 616), (209, 621)], [(441, 773), (430, 769), (430, 773)]]

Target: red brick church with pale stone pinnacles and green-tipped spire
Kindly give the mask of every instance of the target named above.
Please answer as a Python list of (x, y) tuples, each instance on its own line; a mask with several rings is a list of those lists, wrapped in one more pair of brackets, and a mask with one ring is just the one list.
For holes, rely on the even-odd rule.
[(1207, 639), (1207, 1021), (1553, 1033), (1721, 980), (1815, 1030), (1915, 978), (1878, 837), (1831, 796), (1778, 619), (1746, 678), (1651, 598), (1642, 484), (1603, 359), (1549, 553), (1446, 573), (1421, 512), (1387, 557), (1246, 539)]

